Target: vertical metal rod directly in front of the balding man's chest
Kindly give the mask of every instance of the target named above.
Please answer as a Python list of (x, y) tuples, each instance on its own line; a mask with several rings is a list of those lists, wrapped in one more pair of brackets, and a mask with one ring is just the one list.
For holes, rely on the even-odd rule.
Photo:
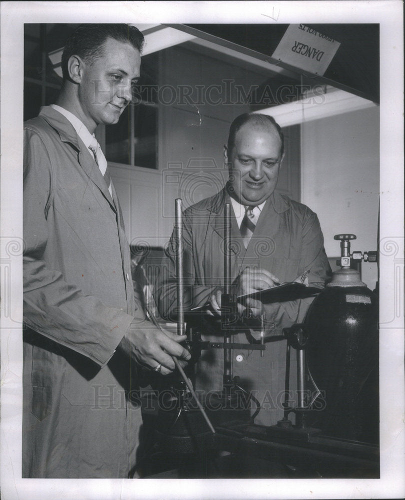
[[(224, 231), (224, 293), (228, 295), (230, 293), (230, 275), (231, 275), (231, 204), (225, 203), (225, 212), (224, 212), (224, 222), (225, 222), (225, 231)], [(229, 301), (228, 301), (229, 302)], [(228, 315), (227, 321), (225, 323), (225, 331), (224, 331), (224, 386), (229, 384), (232, 381), (232, 373), (231, 373), (231, 348), (225, 347), (226, 344), (231, 342), (231, 335), (229, 332), (229, 318), (231, 316), (231, 311), (226, 311)]]

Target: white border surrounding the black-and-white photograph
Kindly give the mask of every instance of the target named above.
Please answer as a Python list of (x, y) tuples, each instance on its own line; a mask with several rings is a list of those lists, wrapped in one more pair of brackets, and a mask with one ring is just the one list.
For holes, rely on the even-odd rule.
[[(403, 12), (375, 1), (34, 1), (1, 3), (1, 264), (21, 254), (24, 23), (379, 23), (380, 240), (399, 245), (403, 279)], [(396, 243), (395, 243), (396, 242)], [(401, 250), (402, 249), (402, 250)], [(389, 251), (387, 251), (387, 254)], [(396, 255), (397, 256), (397, 255)], [(381, 308), (394, 287), (380, 261)], [(14, 258), (13, 262), (16, 261)], [(17, 259), (19, 262), (19, 260)], [(9, 270), (7, 270), (9, 269)], [(4, 272), (2, 281), (4, 283)], [(405, 496), (403, 317), (380, 332), (380, 479), (22, 479), (22, 265), (2, 290), (1, 487), (5, 500), (48, 498), (394, 498)], [(8, 297), (13, 302), (8, 303)], [(387, 298), (388, 297), (388, 298)], [(5, 314), (7, 307), (8, 314)], [(403, 309), (401, 309), (403, 312)], [(6, 312), (7, 312), (6, 311)], [(13, 318), (13, 319), (12, 319)]]

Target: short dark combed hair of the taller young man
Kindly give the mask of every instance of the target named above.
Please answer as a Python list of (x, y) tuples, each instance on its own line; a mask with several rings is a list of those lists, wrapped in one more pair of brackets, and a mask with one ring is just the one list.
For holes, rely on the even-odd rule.
[(107, 38), (130, 43), (140, 52), (144, 44), (144, 35), (129, 24), (81, 24), (69, 36), (63, 50), (63, 79), (69, 79), (68, 61), (72, 55), (79, 55), (87, 64), (93, 64), (103, 55), (103, 43)]

